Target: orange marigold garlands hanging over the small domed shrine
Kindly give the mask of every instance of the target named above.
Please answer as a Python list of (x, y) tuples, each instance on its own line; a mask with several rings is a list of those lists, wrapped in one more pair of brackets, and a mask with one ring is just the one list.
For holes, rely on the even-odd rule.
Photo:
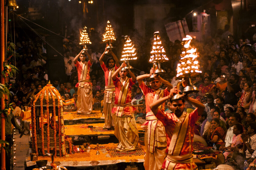
[[(46, 93), (46, 120), (47, 121), (47, 152), (50, 152), (50, 114), (49, 114), (49, 93), (52, 98), (52, 105), (53, 105), (53, 130), (54, 130), (54, 149), (55, 149), (55, 156), (57, 155), (57, 129), (56, 129), (56, 102), (55, 102), (55, 96), (57, 97), (58, 101), (58, 131), (59, 131), (59, 151), (60, 156), (65, 156), (67, 154), (66, 147), (65, 147), (65, 135), (64, 135), (64, 120), (63, 120), (63, 106), (67, 106), (69, 104), (74, 103), (74, 99), (63, 101), (60, 97), (60, 94), (58, 90), (55, 89), (51, 84), (47, 84), (37, 95), (36, 99), (31, 102), (31, 107), (33, 111), (31, 112), (31, 129), (32, 129), (32, 141), (33, 141), (33, 148), (36, 150), (36, 153), (38, 155), (38, 147), (37, 147), (37, 134), (36, 134), (36, 106), (35, 103), (40, 97), (40, 124), (41, 124), (41, 139), (42, 139), (42, 154), (45, 154), (44, 151), (44, 109), (43, 109), (43, 99), (44, 95)], [(40, 96), (41, 95), (41, 96)], [(32, 100), (31, 100), (32, 101)], [(72, 143), (71, 138), (67, 140), (69, 143), (69, 148), (71, 153), (72, 149)]]

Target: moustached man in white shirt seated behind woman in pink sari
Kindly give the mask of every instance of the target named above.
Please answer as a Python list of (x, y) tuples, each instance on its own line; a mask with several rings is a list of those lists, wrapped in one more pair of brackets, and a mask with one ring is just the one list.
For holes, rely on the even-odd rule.
[(237, 116), (232, 114), (229, 117), (229, 122), (228, 122), (229, 128), (228, 128), (228, 131), (227, 131), (227, 134), (226, 134), (225, 143), (220, 146), (220, 150), (225, 150), (226, 147), (231, 146), (232, 138), (235, 135), (235, 134), (233, 134), (233, 128), (234, 128), (234, 125), (237, 124), (237, 123), (238, 123)]

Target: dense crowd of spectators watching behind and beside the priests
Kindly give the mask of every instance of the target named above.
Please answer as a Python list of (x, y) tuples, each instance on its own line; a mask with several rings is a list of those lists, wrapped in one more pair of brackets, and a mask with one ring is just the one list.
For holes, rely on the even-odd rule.
[[(235, 39), (227, 32), (218, 32), (215, 37), (206, 37), (204, 41), (193, 40), (191, 46), (196, 47), (200, 54), (202, 74), (192, 77), (192, 83), (199, 92), (190, 96), (205, 104), (206, 110), (196, 123), (195, 134), (204, 138), (209, 146), (216, 144), (217, 149), (225, 151), (227, 163), (241, 168), (244, 159), (251, 162), (256, 158), (256, 42), (252, 37)], [(55, 86), (64, 100), (77, 99), (78, 82), (77, 69), (73, 59), (80, 52), (78, 40), (63, 39), (63, 57), (65, 63), (65, 79), (54, 77), (51, 84)], [(182, 46), (179, 40), (169, 44), (167, 53), (171, 59), (166, 73), (161, 76), (177, 85), (176, 67), (180, 59)], [(39, 37), (19, 37), (16, 52), (19, 57), (16, 67), (19, 69), (12, 81), (11, 100), (16, 110), (30, 106), (30, 97), (36, 95), (49, 81), (47, 70), (46, 44)], [(99, 51), (104, 51), (100, 49)], [(148, 49), (150, 51), (150, 49)], [(95, 110), (102, 110), (104, 96), (104, 72), (99, 63), (101, 54), (98, 51), (88, 50), (95, 63), (90, 69), (92, 80), (93, 102)], [(118, 58), (119, 55), (117, 55)], [(135, 75), (149, 73), (146, 70), (134, 69)], [(150, 86), (149, 79), (144, 80)], [(166, 88), (164, 85), (161, 89)], [(182, 90), (183, 87), (181, 87)], [(132, 104), (137, 107), (136, 120), (143, 123), (145, 120), (144, 95), (135, 83), (132, 87)], [(170, 112), (170, 103), (165, 104), (166, 112)], [(185, 103), (186, 109), (194, 109), (190, 103)], [(76, 105), (66, 108), (66, 111), (76, 110)], [(19, 111), (20, 112), (20, 111)], [(15, 113), (17, 117), (20, 115)], [(140, 117), (140, 118), (138, 118)], [(240, 154), (239, 154), (240, 153)], [(243, 159), (241, 159), (243, 158)]]

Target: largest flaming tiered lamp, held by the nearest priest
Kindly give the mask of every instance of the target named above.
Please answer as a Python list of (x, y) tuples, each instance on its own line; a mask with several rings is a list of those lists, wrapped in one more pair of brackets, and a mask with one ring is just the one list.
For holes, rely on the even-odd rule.
[[(185, 94), (198, 91), (197, 87), (191, 84), (190, 78), (202, 73), (200, 70), (199, 61), (197, 60), (199, 55), (197, 54), (196, 48), (192, 48), (190, 46), (191, 40), (192, 37), (189, 35), (186, 35), (186, 38), (183, 38), (181, 44), (184, 46), (184, 48), (182, 48), (182, 54), (179, 60), (180, 63), (177, 65), (176, 77), (182, 80), (188, 78), (188, 85), (183, 89), (183, 93)], [(173, 96), (172, 100), (175, 100), (174, 98), (178, 99), (176, 95)]]

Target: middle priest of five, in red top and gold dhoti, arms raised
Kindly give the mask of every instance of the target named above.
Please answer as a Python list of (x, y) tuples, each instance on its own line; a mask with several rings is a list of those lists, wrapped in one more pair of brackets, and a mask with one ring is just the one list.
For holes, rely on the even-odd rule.
[[(139, 141), (133, 115), (135, 108), (131, 104), (131, 89), (136, 82), (136, 77), (130, 70), (123, 69), (124, 67), (126, 67), (125, 62), (112, 74), (115, 86), (115, 105), (112, 114), (116, 115), (114, 135), (119, 140), (116, 150), (120, 152), (135, 150)], [(120, 77), (117, 77), (118, 73)], [(127, 73), (131, 78), (126, 76)]]

